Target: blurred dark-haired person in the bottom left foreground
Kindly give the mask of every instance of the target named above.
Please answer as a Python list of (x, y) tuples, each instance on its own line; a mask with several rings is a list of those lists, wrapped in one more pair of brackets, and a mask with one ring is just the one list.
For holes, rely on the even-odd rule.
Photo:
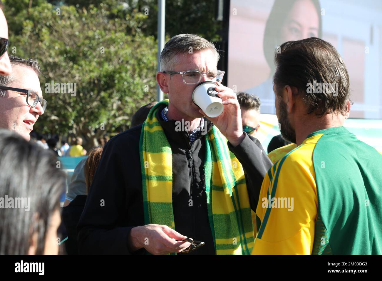
[(57, 255), (66, 176), (56, 162), (49, 151), (0, 129), (0, 255)]

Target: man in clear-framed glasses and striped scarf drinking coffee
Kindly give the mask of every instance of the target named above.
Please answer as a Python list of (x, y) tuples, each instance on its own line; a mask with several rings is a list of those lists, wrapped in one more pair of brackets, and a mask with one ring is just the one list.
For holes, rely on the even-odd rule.
[[(194, 34), (165, 44), (156, 78), (169, 99), (105, 145), (78, 225), (80, 253), (251, 253), (251, 209), (272, 163), (259, 141), (238, 142), (236, 124), (224, 122), (235, 93), (220, 84), (218, 60), (215, 46)], [(216, 126), (193, 102), (202, 81), (217, 83), (227, 107)], [(241, 162), (248, 147), (253, 158)]]

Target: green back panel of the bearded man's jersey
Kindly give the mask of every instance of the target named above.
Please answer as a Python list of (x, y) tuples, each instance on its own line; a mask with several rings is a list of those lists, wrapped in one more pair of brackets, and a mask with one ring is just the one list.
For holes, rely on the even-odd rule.
[(314, 254), (382, 253), (382, 156), (345, 127), (324, 134), (313, 151), (318, 218)]

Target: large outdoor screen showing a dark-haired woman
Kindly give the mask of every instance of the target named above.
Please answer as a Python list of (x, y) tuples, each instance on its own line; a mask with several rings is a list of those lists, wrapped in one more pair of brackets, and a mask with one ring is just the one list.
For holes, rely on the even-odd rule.
[(290, 40), (319, 37), (342, 56), (350, 76), (350, 118), (382, 119), (380, 0), (231, 0), (228, 86), (260, 97), (274, 114), (274, 52)]

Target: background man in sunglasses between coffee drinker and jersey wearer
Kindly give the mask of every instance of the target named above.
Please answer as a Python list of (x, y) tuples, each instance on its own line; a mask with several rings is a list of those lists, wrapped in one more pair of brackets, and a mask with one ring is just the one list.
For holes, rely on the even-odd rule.
[(256, 138), (260, 128), (260, 99), (256, 95), (245, 92), (237, 93), (237, 99), (240, 104), (243, 131)]

